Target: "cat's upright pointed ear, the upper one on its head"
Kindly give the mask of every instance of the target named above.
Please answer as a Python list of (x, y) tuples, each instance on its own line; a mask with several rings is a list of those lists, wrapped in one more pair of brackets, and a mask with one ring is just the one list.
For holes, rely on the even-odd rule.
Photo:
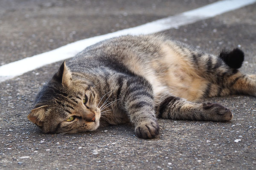
[(66, 66), (66, 61), (61, 64), (58, 72), (53, 76), (53, 79), (60, 82), (63, 86), (69, 86), (72, 80), (71, 72)]

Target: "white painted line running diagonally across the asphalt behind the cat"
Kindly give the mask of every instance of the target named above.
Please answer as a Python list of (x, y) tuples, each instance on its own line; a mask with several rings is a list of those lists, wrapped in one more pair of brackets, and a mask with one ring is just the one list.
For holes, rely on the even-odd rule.
[(134, 28), (123, 29), (109, 34), (79, 40), (52, 51), (0, 66), (0, 82), (19, 76), (28, 71), (32, 71), (44, 65), (73, 57), (84, 48), (108, 38), (126, 34), (151, 34), (170, 28), (178, 28), (179, 26), (195, 23), (198, 20), (214, 17), (216, 15), (223, 14), (224, 12), (232, 11), (255, 2), (256, 0), (221, 0), (201, 8), (196, 8), (191, 11), (186, 11), (181, 14), (166, 17)]

